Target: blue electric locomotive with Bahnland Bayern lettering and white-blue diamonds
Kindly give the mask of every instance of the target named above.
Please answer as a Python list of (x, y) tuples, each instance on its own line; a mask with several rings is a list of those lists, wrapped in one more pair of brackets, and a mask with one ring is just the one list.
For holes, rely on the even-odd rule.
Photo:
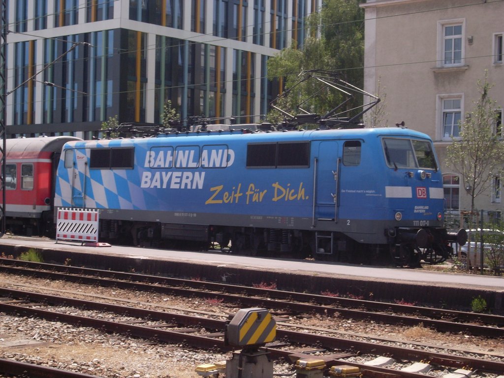
[(450, 256), (428, 136), (402, 128), (205, 131), (70, 142), (55, 208), (100, 210), (100, 239), (193, 240), (316, 259)]

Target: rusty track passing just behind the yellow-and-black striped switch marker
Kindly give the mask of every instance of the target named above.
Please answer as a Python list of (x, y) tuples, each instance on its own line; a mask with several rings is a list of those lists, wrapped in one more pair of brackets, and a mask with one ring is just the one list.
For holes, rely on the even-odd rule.
[[(225, 342), (227, 324), (225, 320), (21, 290), (2, 289), (0, 295), (2, 296), (0, 312), (15, 314), (18, 317), (38, 317), (90, 327), (101, 332), (128, 334), (156, 342), (181, 343), (207, 350), (233, 349)], [(103, 319), (105, 312), (113, 314), (113, 318)], [(324, 360), (327, 366), (341, 364), (358, 366), (363, 376), (369, 377), (392, 374), (397, 377), (418, 378), (425, 377), (425, 374), (370, 366), (351, 358), (360, 357), (372, 361), (375, 358), (389, 356), (394, 359), (394, 363), (400, 365), (400, 368), (423, 361), (435, 370), (464, 368), (467, 371), (479, 371), (485, 374), (498, 374), (504, 371), (504, 361), (413, 349), (411, 345), (387, 345), (376, 343), (375, 340), (349, 340), (331, 335), (330, 331), (326, 334), (306, 333), (305, 330), (296, 330), (295, 327), (289, 327), (282, 322), (277, 327), (277, 341), (266, 344), (262, 349), (268, 351), (274, 358), (284, 357), (291, 362), (315, 355), (318, 359)]]

